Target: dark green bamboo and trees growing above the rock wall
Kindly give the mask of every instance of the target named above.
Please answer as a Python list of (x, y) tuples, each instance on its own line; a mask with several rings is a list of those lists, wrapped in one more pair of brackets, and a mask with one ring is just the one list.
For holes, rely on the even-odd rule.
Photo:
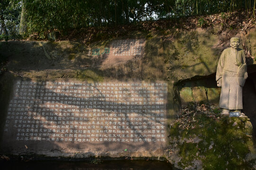
[[(46, 37), (50, 31), (64, 35), (72, 29), (90, 26), (118, 26), (161, 18), (206, 15), (255, 8), (256, 0), (2, 0), (0, 19), (9, 33)], [(15, 5), (9, 5), (9, 4)], [(20, 17), (22, 5), (22, 14)], [(9, 12), (8, 12), (9, 11)], [(4, 14), (4, 15), (3, 15)], [(224, 14), (224, 13), (222, 13)], [(250, 13), (251, 15), (254, 13)], [(223, 15), (223, 17), (225, 17)], [(10, 23), (8, 23), (10, 21)], [(199, 26), (207, 24), (202, 18)], [(4, 26), (2, 26), (4, 27)], [(24, 29), (24, 30), (23, 30)], [(17, 37), (10, 37), (11, 39)]]

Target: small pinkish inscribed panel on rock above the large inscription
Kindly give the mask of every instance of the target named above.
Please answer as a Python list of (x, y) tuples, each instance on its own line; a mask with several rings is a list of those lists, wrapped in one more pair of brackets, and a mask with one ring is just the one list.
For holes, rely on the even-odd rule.
[(144, 39), (114, 40), (109, 47), (91, 49), (90, 55), (100, 59), (102, 65), (109, 65), (143, 56), (144, 46)]

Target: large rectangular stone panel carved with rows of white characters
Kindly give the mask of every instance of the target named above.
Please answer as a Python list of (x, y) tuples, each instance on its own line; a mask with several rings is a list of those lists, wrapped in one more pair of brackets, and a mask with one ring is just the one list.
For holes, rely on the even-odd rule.
[(18, 80), (4, 135), (59, 143), (165, 143), (167, 84)]

